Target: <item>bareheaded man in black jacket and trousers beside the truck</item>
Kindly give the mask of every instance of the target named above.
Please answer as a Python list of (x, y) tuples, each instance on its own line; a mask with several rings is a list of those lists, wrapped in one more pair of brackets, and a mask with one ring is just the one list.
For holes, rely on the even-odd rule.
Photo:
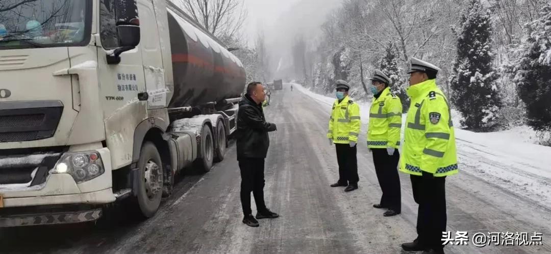
[[(265, 100), (264, 86), (260, 82), (247, 85), (247, 93), (239, 102), (237, 113), (237, 161), (241, 170), (241, 206), (243, 223), (258, 227), (258, 220), (277, 218), (264, 203), (264, 159), (268, 153), (269, 131), (277, 130), (276, 124), (267, 123), (262, 110)], [(255, 196), (256, 219), (251, 211), (251, 191)]]

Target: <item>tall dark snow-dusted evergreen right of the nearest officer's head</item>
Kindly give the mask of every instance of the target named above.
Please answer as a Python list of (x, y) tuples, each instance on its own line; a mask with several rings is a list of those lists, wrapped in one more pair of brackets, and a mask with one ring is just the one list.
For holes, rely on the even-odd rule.
[(501, 107), (491, 51), (490, 11), (480, 0), (469, 0), (457, 35), (457, 58), (450, 77), (451, 101), (462, 113), (462, 124), (474, 131), (494, 129)]

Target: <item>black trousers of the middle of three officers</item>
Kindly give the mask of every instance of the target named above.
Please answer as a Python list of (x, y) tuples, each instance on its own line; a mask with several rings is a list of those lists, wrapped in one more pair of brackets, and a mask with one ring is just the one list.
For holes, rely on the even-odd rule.
[(398, 175), (398, 161), (400, 153), (394, 150), (392, 156), (388, 155), (386, 148), (373, 148), (373, 164), (375, 173), (381, 186), (381, 206), (402, 212), (402, 200), (400, 191), (400, 177)]

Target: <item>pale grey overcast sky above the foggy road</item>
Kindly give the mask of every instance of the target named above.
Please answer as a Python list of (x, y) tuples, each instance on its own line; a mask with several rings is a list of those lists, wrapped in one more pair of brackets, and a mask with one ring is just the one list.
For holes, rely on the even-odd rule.
[(327, 14), (342, 0), (244, 0), (248, 17), (245, 23), (249, 45), (259, 32), (264, 33), (272, 61), (288, 62), (291, 42), (298, 34), (313, 39)]

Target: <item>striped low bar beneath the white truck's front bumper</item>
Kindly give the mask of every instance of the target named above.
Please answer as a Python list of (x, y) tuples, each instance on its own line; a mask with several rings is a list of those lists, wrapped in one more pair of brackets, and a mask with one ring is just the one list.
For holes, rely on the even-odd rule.
[(101, 208), (82, 212), (20, 214), (0, 217), (0, 228), (91, 222), (101, 215)]

